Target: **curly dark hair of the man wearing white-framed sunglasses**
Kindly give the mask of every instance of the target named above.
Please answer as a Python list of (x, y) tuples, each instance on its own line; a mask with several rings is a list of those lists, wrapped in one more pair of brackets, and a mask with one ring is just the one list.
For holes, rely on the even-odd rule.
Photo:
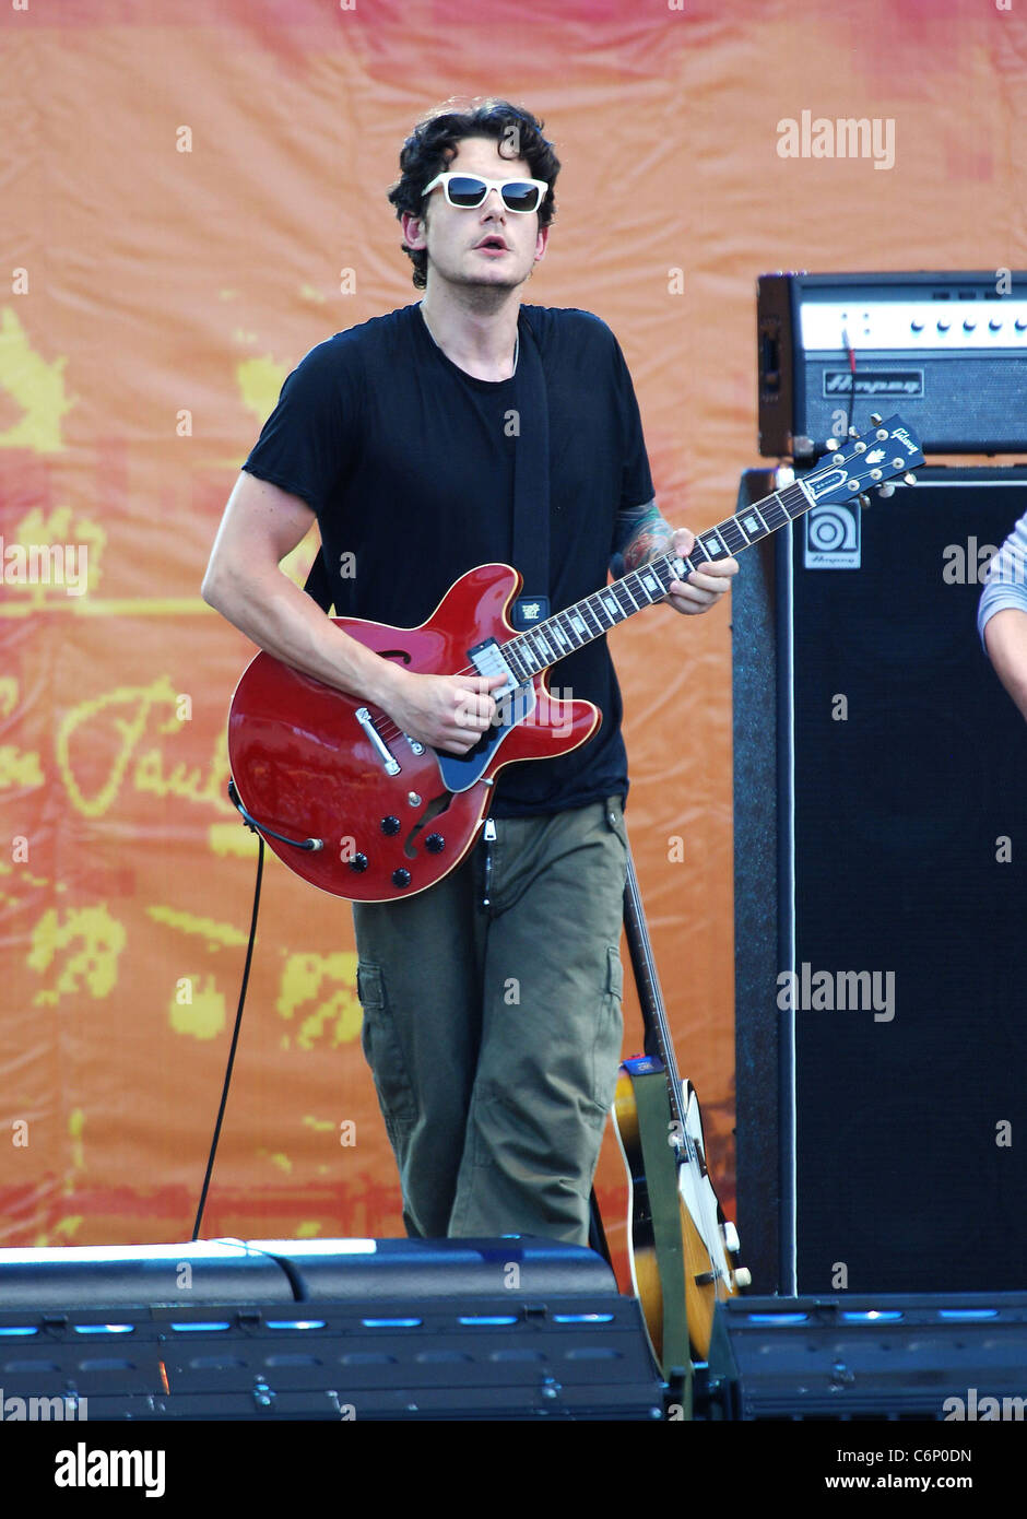
[[(542, 137), (544, 125), (509, 100), (471, 100), (463, 111), (456, 100), (436, 106), (418, 122), (400, 152), (400, 178), (389, 190), (397, 217), (404, 211), (422, 214), (424, 187), (445, 172), (462, 138), (491, 137), (500, 144), (503, 158), (526, 159), (532, 179), (544, 179), (548, 185), (538, 208), (538, 225), (548, 226), (556, 214), (553, 187), (561, 163), (553, 144)], [(406, 243), (401, 248), (413, 264), (415, 289), (424, 290), (428, 255), (422, 248), (407, 248)]]

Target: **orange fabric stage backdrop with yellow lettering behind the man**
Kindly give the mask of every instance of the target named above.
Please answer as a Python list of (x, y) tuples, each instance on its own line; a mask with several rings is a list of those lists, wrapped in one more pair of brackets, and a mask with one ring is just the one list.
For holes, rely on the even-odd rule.
[[(384, 199), (412, 122), (451, 94), (545, 118), (530, 299), (614, 327), (661, 504), (700, 529), (757, 462), (761, 270), (1024, 264), (1025, 74), (1019, 0), (0, 0), (3, 1244), (191, 1229), (255, 860), (223, 743), (251, 649), (198, 588), (286, 374), (413, 299)], [(781, 156), (804, 111), (892, 122), (893, 163)], [(21, 583), (33, 544), (85, 550), (84, 594)], [(652, 612), (614, 653), (731, 1198), (729, 612)], [(207, 1235), (401, 1232), (359, 1027), (348, 908), (269, 860)], [(611, 1144), (599, 1194), (621, 1244)]]

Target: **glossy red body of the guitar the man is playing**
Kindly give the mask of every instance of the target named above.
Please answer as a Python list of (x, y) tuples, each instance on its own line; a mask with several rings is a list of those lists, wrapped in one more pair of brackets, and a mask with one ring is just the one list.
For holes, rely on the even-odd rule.
[[(348, 617), (334, 623), (415, 673), (474, 671), (471, 649), (514, 636), (506, 614), (520, 585), (509, 565), (480, 565), (454, 582), (419, 627)], [(232, 779), (261, 831), (322, 840), (321, 849), (304, 851), (264, 835), (311, 886), (362, 902), (413, 896), (468, 852), (504, 764), (568, 753), (599, 728), (599, 708), (555, 699), (545, 674), (518, 688), (509, 722), (469, 755), (454, 756), (412, 743), (381, 709), (260, 653), (232, 696)]]

